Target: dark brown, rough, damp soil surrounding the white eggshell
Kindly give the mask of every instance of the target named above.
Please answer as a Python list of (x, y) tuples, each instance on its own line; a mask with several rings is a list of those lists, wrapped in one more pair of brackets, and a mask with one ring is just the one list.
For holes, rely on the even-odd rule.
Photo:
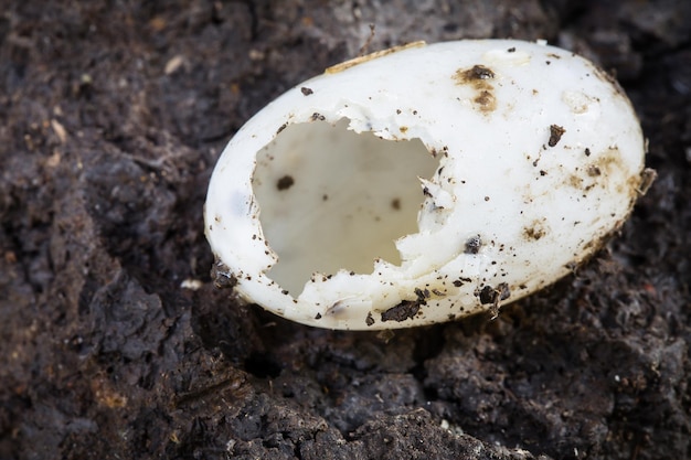
[[(2, 4), (0, 459), (691, 458), (691, 2)], [(616, 73), (659, 174), (621, 235), (493, 321), (394, 334), (215, 289), (221, 149), (371, 23), (370, 51), (548, 39)]]

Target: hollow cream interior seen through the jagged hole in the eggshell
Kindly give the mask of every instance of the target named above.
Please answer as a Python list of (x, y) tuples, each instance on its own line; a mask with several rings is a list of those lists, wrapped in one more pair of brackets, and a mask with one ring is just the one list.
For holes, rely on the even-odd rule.
[(417, 178), (438, 160), (419, 139), (383, 140), (349, 120), (290, 125), (257, 153), (253, 189), (278, 263), (268, 277), (297, 296), (313, 274), (400, 265), (395, 240), (417, 232)]

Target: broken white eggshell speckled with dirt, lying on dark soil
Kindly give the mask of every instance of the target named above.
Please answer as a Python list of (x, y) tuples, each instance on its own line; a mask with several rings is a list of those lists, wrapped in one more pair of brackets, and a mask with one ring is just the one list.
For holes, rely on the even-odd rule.
[(214, 276), (330, 329), (496, 313), (623, 225), (644, 159), (621, 88), (568, 51), (378, 52), (288, 90), (230, 141), (204, 212)]

